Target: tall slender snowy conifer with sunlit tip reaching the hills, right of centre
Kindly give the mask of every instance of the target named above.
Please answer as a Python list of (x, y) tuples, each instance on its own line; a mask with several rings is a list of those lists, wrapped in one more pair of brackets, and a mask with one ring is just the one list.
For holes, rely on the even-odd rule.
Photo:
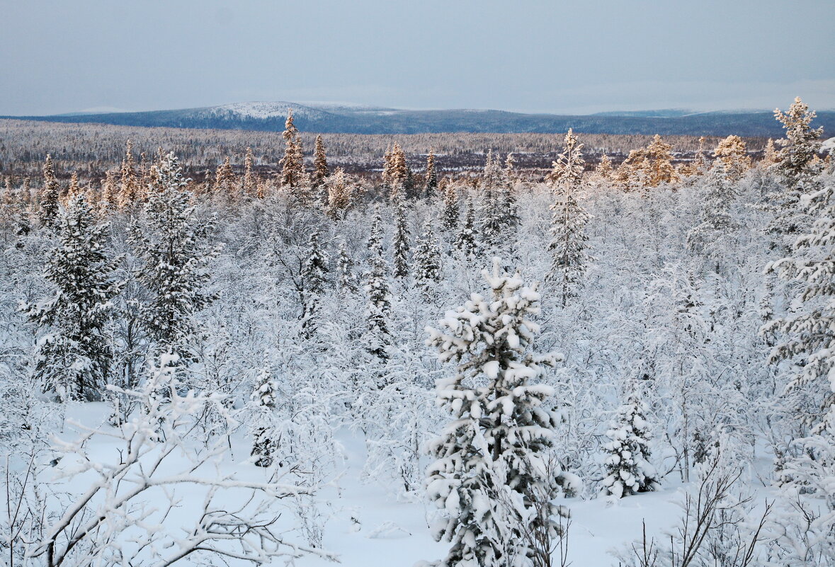
[(556, 199), (549, 209), (551, 213), (551, 269), (547, 279), (561, 290), (562, 305), (573, 296), (585, 274), (590, 256), (586, 251), (585, 225), (589, 221), (577, 200), (577, 192), (583, 183), (583, 144), (569, 129), (565, 134), (565, 151), (554, 162), (549, 179), (554, 186)]

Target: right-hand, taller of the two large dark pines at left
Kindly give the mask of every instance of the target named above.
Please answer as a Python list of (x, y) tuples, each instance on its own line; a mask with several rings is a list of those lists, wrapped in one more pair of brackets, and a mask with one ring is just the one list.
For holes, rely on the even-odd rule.
[(175, 154), (165, 155), (154, 170), (144, 219), (130, 236), (142, 261), (135, 276), (149, 292), (141, 318), (158, 352), (174, 352), (188, 362), (200, 334), (194, 315), (215, 299), (204, 289), (210, 280), (205, 268), (216, 256), (204, 243), (212, 225), (190, 205), (190, 180), (183, 178)]

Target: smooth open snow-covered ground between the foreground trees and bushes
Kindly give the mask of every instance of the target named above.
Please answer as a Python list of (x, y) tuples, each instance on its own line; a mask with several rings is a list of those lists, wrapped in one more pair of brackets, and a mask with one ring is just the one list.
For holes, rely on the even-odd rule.
[[(91, 428), (109, 429), (106, 418), (109, 408), (104, 403), (77, 404), (68, 409), (68, 423), (78, 422)], [(66, 426), (59, 438), (70, 441), (75, 437), (73, 428)], [(230, 456), (220, 463), (220, 472), (235, 474), (236, 478), (257, 480), (265, 475), (265, 469), (254, 466), (250, 461), (251, 441), (243, 433), (235, 435)], [(430, 535), (428, 522), (431, 509), (424, 502), (398, 501), (393, 491), (379, 482), (362, 478), (366, 458), (361, 435), (343, 430), (338, 435), (345, 453), (342, 474), (334, 483), (319, 494), (320, 508), (326, 518), (323, 550), (337, 554), (341, 564), (347, 567), (411, 567), (420, 560), (440, 559), (448, 544), (438, 543)], [(89, 453), (102, 463), (119, 461), (119, 451), (124, 448), (113, 439), (97, 436), (89, 444)], [(65, 458), (53, 472), (41, 478), (52, 484), (52, 489), (67, 489), (71, 494), (81, 494), (92, 480), (89, 476), (78, 476), (71, 481), (54, 483), (51, 476), (66, 470), (70, 463)], [(169, 464), (171, 470), (184, 464)], [(768, 458), (761, 458), (759, 465), (770, 466)], [(686, 485), (677, 481), (674, 474), (668, 475), (660, 490), (620, 499), (610, 504), (608, 499), (560, 499), (571, 511), (568, 537), (568, 559), (571, 564), (589, 567), (615, 565), (611, 554), (613, 549), (623, 548), (640, 539), (643, 525), (648, 537), (663, 537), (675, 529), (681, 518), (681, 503)], [(180, 506), (174, 509), (164, 526), (177, 532), (194, 524), (195, 508), (190, 504), (199, 503), (205, 495), (205, 487), (180, 485), (176, 489)], [(153, 493), (149, 494), (152, 498)], [(231, 504), (240, 493), (230, 491), (220, 497)], [(757, 495), (762, 499), (762, 495)], [(159, 502), (149, 502), (159, 505)], [(289, 518), (288, 518), (289, 519)], [(299, 543), (304, 543), (299, 541)], [(276, 559), (275, 564), (280, 564)], [(244, 562), (231, 564), (248, 564)], [(328, 559), (306, 555), (296, 559), (299, 567), (322, 567), (332, 564)]]

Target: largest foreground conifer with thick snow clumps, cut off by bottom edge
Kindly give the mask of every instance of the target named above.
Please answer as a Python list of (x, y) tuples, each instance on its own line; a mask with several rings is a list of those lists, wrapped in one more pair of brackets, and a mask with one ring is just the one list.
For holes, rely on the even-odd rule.
[(536, 286), (525, 286), (494, 261), (484, 271), (490, 296), (473, 294), (428, 328), (427, 344), (442, 362), (456, 362), (454, 377), (438, 380), (438, 401), (453, 421), (431, 443), (428, 494), (443, 520), (434, 537), (452, 543), (444, 567), (524, 565), (537, 555), (525, 534), (554, 534), (551, 504), (561, 472), (549, 471), (557, 418), (542, 407), (552, 388), (535, 383), (557, 357), (534, 352), (539, 327)]

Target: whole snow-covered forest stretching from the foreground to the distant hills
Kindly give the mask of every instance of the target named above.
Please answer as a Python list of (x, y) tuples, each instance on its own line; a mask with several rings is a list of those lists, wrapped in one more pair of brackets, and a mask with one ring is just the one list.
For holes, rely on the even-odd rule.
[(835, 565), (835, 144), (0, 120), (0, 564)]

